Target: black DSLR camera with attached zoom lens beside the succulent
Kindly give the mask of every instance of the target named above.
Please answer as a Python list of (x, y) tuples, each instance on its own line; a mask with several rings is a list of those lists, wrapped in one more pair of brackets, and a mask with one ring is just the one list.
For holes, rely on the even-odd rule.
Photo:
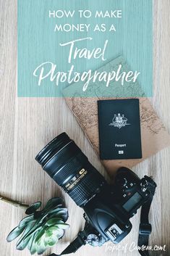
[[(85, 229), (61, 255), (75, 252), (82, 244), (119, 243), (131, 231), (129, 218), (137, 209), (144, 206), (143, 212), (145, 207), (149, 211), (156, 189), (152, 178), (140, 179), (132, 170), (120, 168), (114, 185), (109, 185), (66, 133), (47, 144), (35, 160), (85, 211)], [(140, 235), (151, 232), (147, 213), (145, 223), (140, 224)]]

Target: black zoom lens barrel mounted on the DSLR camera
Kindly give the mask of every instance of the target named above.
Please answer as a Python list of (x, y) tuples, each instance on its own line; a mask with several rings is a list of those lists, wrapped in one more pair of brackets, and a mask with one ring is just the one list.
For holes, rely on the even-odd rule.
[(80, 207), (106, 184), (103, 176), (90, 164), (75, 142), (69, 139), (67, 133), (61, 133), (48, 143), (35, 160)]

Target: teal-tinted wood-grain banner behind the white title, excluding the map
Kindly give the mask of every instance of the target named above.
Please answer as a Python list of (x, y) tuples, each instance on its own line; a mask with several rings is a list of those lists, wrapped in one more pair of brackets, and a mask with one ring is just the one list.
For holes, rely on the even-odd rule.
[(119, 55), (152, 96), (152, 17), (151, 0), (18, 0), (18, 96), (61, 96)]

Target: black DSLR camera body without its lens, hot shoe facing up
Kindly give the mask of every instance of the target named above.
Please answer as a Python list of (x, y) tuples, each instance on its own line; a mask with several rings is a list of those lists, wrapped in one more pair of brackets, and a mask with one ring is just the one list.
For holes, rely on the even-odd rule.
[(86, 234), (87, 242), (101, 246), (109, 240), (114, 244), (122, 241), (132, 229), (129, 218), (153, 196), (155, 186), (152, 178), (140, 179), (132, 170), (119, 168), (114, 185), (103, 186), (83, 207), (86, 222), (93, 226)]

